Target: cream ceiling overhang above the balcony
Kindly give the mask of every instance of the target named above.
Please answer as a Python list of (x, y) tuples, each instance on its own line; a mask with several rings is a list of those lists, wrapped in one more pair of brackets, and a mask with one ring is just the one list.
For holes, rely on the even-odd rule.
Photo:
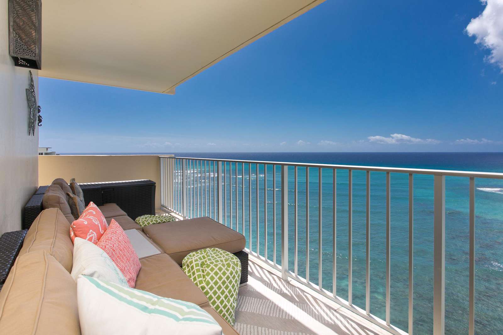
[(39, 75), (171, 93), (324, 0), (44, 0)]

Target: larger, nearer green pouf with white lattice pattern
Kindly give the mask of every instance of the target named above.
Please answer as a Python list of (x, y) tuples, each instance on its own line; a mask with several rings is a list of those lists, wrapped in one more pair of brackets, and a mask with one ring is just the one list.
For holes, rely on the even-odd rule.
[(222, 249), (201, 249), (185, 256), (182, 268), (206, 295), (211, 307), (233, 325), (241, 277), (239, 259)]

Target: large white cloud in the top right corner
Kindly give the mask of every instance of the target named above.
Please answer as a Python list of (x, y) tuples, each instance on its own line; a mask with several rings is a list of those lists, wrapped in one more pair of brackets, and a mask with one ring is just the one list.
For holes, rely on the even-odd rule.
[(484, 11), (466, 26), (468, 36), (475, 36), (475, 43), (491, 50), (489, 63), (496, 64), (503, 72), (503, 0), (481, 0)]

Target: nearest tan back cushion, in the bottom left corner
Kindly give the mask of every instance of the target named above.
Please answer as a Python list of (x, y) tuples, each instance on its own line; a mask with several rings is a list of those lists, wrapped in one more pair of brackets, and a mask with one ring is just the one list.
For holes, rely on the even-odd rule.
[(77, 285), (45, 251), (19, 256), (0, 291), (0, 333), (80, 334)]

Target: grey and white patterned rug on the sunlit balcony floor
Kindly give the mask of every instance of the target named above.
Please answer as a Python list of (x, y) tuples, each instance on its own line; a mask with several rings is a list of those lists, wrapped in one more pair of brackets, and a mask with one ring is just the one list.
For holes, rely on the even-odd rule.
[(248, 274), (248, 285), (239, 289), (234, 324), (241, 335), (384, 333), (358, 324), (352, 313), (329, 307), (253, 262)]

